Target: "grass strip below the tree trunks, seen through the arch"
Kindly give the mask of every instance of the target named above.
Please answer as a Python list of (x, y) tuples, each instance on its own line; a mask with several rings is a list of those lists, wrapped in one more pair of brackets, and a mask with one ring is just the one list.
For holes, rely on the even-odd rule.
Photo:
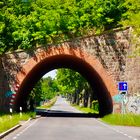
[(76, 109), (82, 111), (82, 112), (85, 112), (85, 113), (95, 113), (95, 114), (98, 114), (97, 111), (93, 110), (92, 108), (88, 108), (88, 107), (80, 107), (78, 105), (73, 105), (73, 107), (75, 107)]

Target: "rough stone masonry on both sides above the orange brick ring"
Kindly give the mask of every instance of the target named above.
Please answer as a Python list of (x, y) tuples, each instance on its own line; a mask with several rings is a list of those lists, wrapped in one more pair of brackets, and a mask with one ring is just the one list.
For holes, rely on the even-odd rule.
[[(89, 54), (96, 56), (116, 82), (125, 80), (124, 68), (126, 65), (126, 55), (129, 49), (130, 29), (117, 30), (105, 33), (100, 36), (86, 38), (76, 38), (75, 40), (64, 42), (56, 47), (69, 46), (80, 47)], [(11, 85), (15, 84), (15, 75), (21, 70), (22, 66), (28, 62), (29, 58), (38, 52), (47, 51), (51, 46), (43, 46), (37, 50), (26, 52), (14, 52), (3, 57), (5, 70)], [(23, 71), (24, 72), (24, 71)]]

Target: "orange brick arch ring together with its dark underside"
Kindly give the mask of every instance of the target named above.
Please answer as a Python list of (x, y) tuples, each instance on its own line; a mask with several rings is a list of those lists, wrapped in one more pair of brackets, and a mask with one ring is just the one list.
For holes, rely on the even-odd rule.
[(31, 58), (17, 74), (20, 85), (16, 106), (23, 106), (26, 94), (29, 94), (34, 84), (49, 70), (55, 68), (71, 68), (81, 73), (93, 87), (100, 102), (100, 112), (112, 112), (111, 95), (117, 93), (116, 84), (109, 76), (98, 59), (79, 48), (51, 47), (46, 52), (40, 52)]

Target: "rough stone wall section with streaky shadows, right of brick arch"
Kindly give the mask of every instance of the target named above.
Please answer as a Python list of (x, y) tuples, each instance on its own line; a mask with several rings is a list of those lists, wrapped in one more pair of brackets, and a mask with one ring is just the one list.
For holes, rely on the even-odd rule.
[[(130, 29), (110, 32), (101, 36), (84, 39), (84, 50), (96, 56), (114, 81), (123, 81), (126, 55), (130, 44)], [(86, 45), (86, 46), (85, 46)]]

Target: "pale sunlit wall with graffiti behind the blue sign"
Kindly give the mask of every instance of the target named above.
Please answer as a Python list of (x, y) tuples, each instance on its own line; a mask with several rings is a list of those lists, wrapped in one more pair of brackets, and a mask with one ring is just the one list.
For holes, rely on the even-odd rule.
[(131, 34), (130, 48), (126, 55), (125, 72), (122, 75), (128, 83), (128, 92), (124, 96), (118, 94), (114, 97), (116, 102), (114, 112), (140, 114), (140, 55), (136, 53), (136, 50), (140, 50), (140, 39)]

